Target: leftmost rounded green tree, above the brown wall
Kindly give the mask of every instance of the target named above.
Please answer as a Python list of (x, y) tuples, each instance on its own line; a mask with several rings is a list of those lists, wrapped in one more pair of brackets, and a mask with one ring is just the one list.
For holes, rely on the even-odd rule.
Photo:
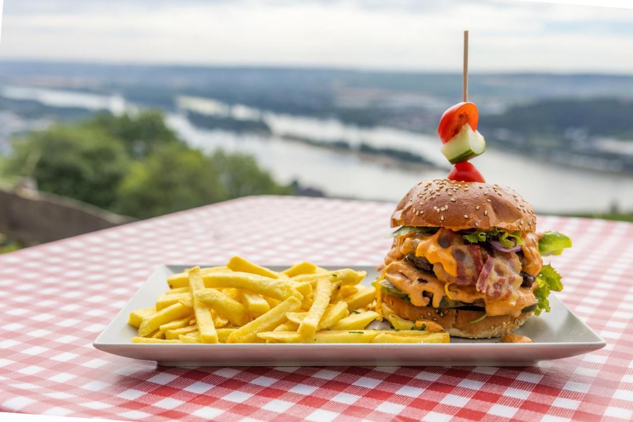
[(54, 125), (13, 143), (8, 170), (30, 176), (38, 189), (110, 208), (130, 159), (123, 143), (102, 130)]

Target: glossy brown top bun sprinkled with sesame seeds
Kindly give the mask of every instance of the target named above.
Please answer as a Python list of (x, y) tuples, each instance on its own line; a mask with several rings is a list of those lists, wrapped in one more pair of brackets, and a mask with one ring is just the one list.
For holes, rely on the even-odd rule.
[(534, 232), (536, 215), (508, 187), (435, 179), (418, 183), (399, 202), (391, 216), (391, 227), (398, 226)]

